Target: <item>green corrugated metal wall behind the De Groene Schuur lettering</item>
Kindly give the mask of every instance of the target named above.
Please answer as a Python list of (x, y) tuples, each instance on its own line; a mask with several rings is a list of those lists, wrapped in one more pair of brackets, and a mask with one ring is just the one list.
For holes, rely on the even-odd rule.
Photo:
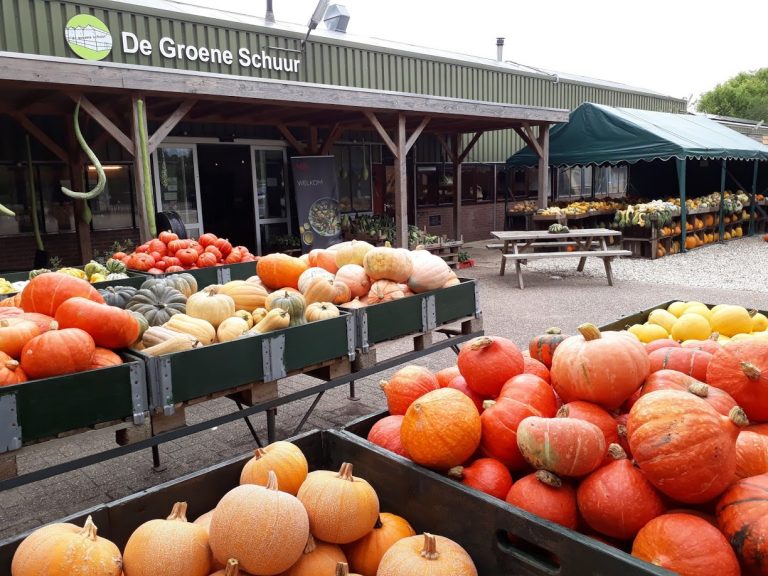
[[(64, 39), (64, 27), (69, 18), (81, 13), (93, 14), (109, 27), (115, 47), (105, 61), (111, 62), (552, 108), (573, 109), (590, 101), (664, 112), (685, 110), (683, 100), (567, 80), (555, 82), (554, 78), (510, 71), (492, 61), (483, 65), (342, 41), (332, 44), (318, 36), (311, 37), (308, 42), (298, 74), (255, 69), (240, 65), (237, 59), (239, 47), (247, 48), (250, 53), (264, 50), (270, 55), (293, 57), (290, 52), (271, 48), (295, 48), (300, 37), (290, 32), (275, 35), (273, 29), (248, 27), (235, 22), (229, 25), (104, 0), (88, 3), (0, 0), (0, 50), (73, 57)], [(116, 48), (122, 31), (150, 39), (153, 53), (150, 56), (123, 54)], [(177, 44), (229, 48), (235, 53), (234, 62), (227, 66), (186, 59), (169, 61), (161, 56), (157, 46), (163, 36), (173, 37)], [(522, 142), (512, 132), (486, 134), (467, 160), (504, 161), (521, 146)], [(440, 147), (434, 141), (421, 139), (416, 154), (419, 161), (436, 160), (440, 158)]]

